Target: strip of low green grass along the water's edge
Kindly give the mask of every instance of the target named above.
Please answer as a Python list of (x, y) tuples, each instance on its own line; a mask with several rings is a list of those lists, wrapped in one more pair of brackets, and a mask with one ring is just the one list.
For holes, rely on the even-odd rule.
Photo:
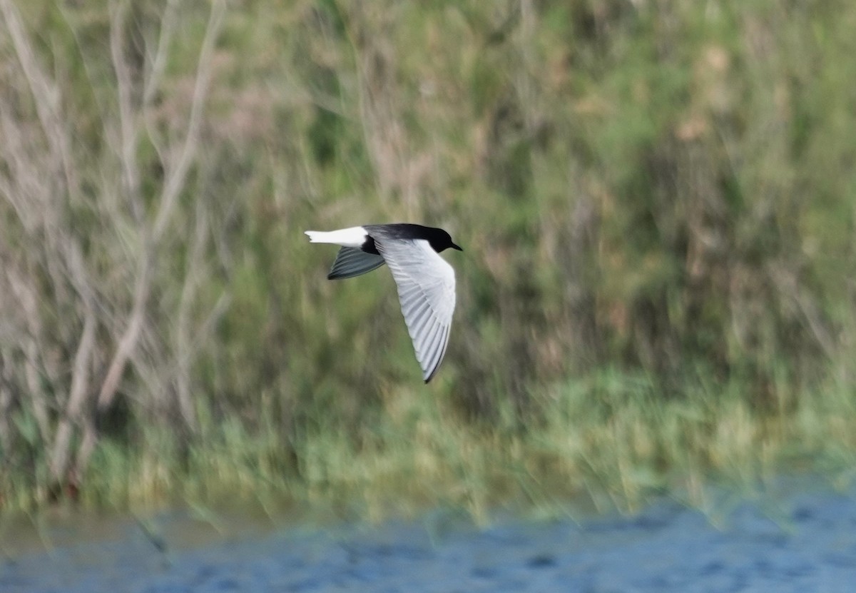
[[(794, 473), (856, 477), (856, 405), (835, 386), (764, 413), (739, 386), (698, 381), (686, 397), (663, 398), (645, 375), (615, 370), (536, 397), (543, 413), (526, 428), (508, 410), (463, 422), (416, 390), (389, 392), (386, 413), (353, 435), (318, 428), (288, 441), (272, 426), (251, 434), (227, 422), (206, 427), (181, 464), (169, 434), (148, 432), (133, 449), (104, 441), (80, 504), (372, 520), (440, 507), (483, 520), (503, 508), (561, 513), (580, 500), (632, 512), (663, 495), (704, 508), (714, 484), (750, 492)], [(18, 492), (7, 508), (37, 508), (38, 492)]]

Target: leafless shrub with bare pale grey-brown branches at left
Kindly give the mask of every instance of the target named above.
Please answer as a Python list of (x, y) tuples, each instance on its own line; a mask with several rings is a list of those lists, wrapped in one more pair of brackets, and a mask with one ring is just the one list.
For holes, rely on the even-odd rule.
[[(149, 403), (178, 410), (182, 425), (196, 426), (194, 337), (208, 331), (209, 320), (195, 320), (193, 311), (208, 267), (205, 247), (219, 233), (209, 228), (201, 196), (187, 205), (181, 196), (199, 152), (226, 3), (211, 4), (187, 123), (177, 141), (158, 136), (155, 113), (170, 92), (163, 77), (185, 18), (181, 3), (165, 4), (154, 23), (156, 35), (145, 37), (157, 40), (152, 51), (140, 50), (141, 66), (128, 32), (152, 24), (136, 21), (132, 8), (127, 0), (110, 4), (109, 57), (87, 56), (71, 11), (61, 9), (81, 52), (87, 92), (98, 101), (96, 134), (104, 143), (85, 144), (74, 113), (67, 112), (78, 89), (69, 86), (56, 55), (51, 60), (40, 53), (51, 49), (34, 43), (15, 3), (0, 0), (0, 35), (9, 33), (3, 44), (12, 58), (3, 71), (11, 83), (0, 89), (0, 219), (7, 231), (0, 237), (0, 290), (3, 304), (11, 305), (0, 319), (0, 409), (32, 415), (55, 491), (86, 469), (98, 443), (98, 410), (113, 404), (129, 367), (136, 380), (129, 381), (128, 397), (136, 397), (142, 410)], [(102, 81), (93, 73), (104, 71), (104, 60), (115, 84), (99, 94)], [(51, 62), (61, 65), (51, 70)], [(141, 151), (145, 146), (155, 148), (154, 163)], [(155, 195), (144, 183), (143, 171), (152, 165), (163, 171)], [(185, 241), (183, 275), (161, 273), (159, 258)], [(175, 298), (155, 305), (153, 294)], [(174, 302), (175, 310), (159, 311), (164, 302)], [(222, 302), (228, 301), (221, 298), (213, 314), (222, 314)], [(172, 320), (175, 332), (168, 329)], [(4, 416), (0, 445), (15, 442), (15, 430)]]

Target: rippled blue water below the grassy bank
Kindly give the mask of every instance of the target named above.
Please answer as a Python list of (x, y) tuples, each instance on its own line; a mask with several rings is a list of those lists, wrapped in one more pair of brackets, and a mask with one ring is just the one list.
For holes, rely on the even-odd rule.
[(728, 500), (712, 514), (664, 501), (633, 517), (479, 529), (435, 512), (231, 538), (174, 512), (152, 520), (159, 539), (125, 520), (84, 541), (54, 530), (50, 552), (4, 542), (0, 593), (856, 590), (856, 490)]

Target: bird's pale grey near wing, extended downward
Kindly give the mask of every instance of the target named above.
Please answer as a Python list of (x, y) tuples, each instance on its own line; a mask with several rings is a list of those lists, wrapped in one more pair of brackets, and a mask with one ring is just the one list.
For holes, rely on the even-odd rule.
[(455, 270), (423, 239), (383, 241), (375, 237), (375, 245), (392, 271), (401, 313), (427, 383), (443, 362), (449, 344)]

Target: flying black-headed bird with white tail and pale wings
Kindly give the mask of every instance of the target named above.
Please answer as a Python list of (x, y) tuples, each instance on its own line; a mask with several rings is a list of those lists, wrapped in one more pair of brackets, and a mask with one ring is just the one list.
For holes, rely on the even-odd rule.
[(306, 231), (306, 235), (310, 243), (340, 246), (327, 279), (354, 278), (389, 266), (422, 379), (430, 381), (446, 354), (455, 312), (455, 270), (438, 254), (463, 249), (443, 229), (410, 223)]

